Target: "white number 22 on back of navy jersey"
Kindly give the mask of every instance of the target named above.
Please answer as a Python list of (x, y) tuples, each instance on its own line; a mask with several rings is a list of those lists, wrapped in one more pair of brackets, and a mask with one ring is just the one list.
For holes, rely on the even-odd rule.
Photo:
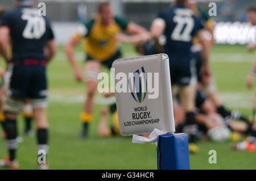
[[(174, 22), (177, 23), (172, 31), (171, 39), (176, 41), (191, 41), (191, 31), (194, 27), (194, 20), (189, 16), (174, 16)], [(184, 30), (183, 30), (184, 29)], [(183, 31), (182, 31), (183, 30)]]

